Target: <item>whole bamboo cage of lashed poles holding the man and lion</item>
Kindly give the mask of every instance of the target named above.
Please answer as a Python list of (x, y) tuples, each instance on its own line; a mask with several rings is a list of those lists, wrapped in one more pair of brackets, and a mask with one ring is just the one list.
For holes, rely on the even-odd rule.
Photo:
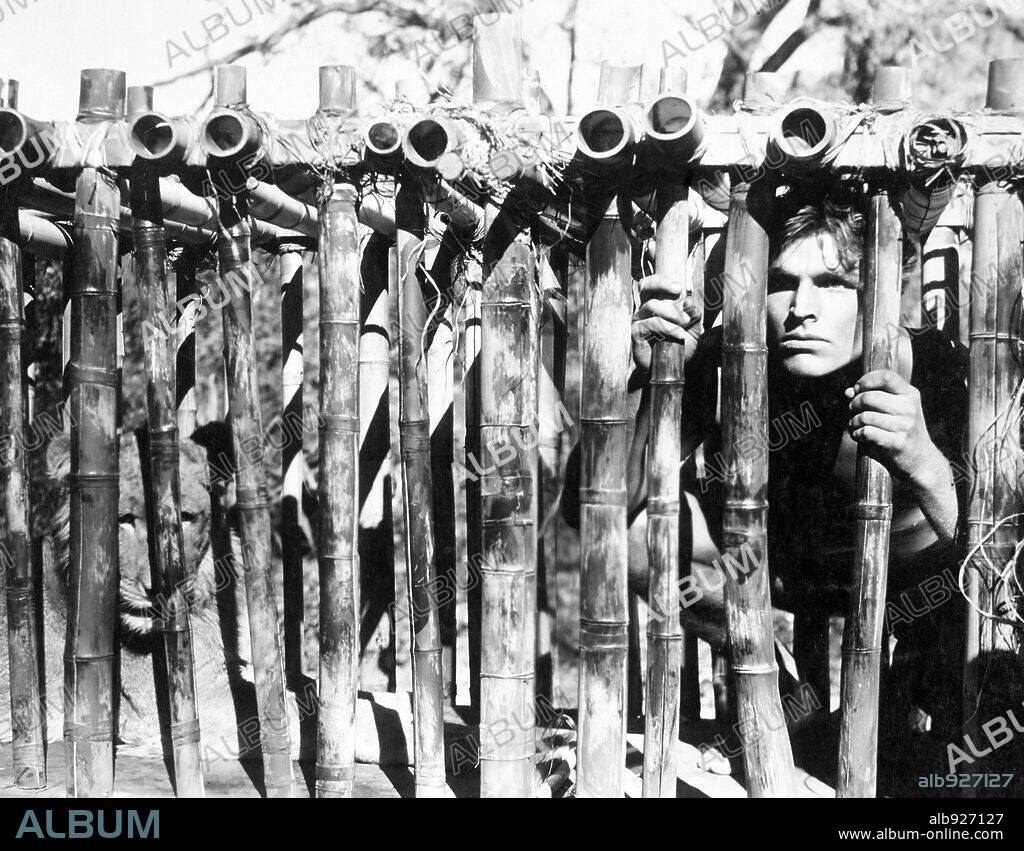
[[(692, 747), (686, 738), (700, 716), (711, 714), (706, 705), (714, 706), (717, 730), (740, 731), (750, 797), (796, 794), (799, 765), (772, 623), (768, 456), (743, 448), (768, 442), (767, 281), (780, 190), (834, 177), (859, 185), (868, 210), (862, 372), (895, 365), (893, 331), (901, 324), (942, 314), (939, 329), (969, 342), (971, 407), (963, 425), (971, 496), (966, 525), (957, 529), (967, 543), (957, 557), (965, 556), (968, 623), (966, 653), (956, 664), (965, 680), (964, 729), (978, 740), (986, 720), (979, 708), (994, 688), (989, 663), (1001, 653), (1018, 656), (1020, 646), (1013, 581), (1022, 527), (1022, 60), (993, 63), (985, 111), (952, 113), (941, 122), (910, 112), (905, 70), (880, 72), (872, 101), (857, 110), (791, 99), (780, 78), (754, 74), (738, 115), (707, 115), (685, 94), (678, 71), (666, 70), (658, 95), (643, 103), (640, 68), (606, 63), (594, 108), (568, 121), (572, 132), (552, 140), (536, 79), (527, 78), (524, 91), (522, 53), (518, 19), (499, 15), (475, 30), (472, 104), (450, 95), (430, 103), (400, 97), (367, 116), (355, 109), (354, 70), (326, 67), (317, 111), (303, 121), (271, 121), (250, 107), (244, 69), (233, 66), (218, 69), (213, 110), (202, 117), (156, 112), (144, 87), (133, 87), (126, 103), (124, 75), (115, 71), (83, 73), (74, 122), (28, 118), (8, 88), (0, 148), (17, 164), (19, 179), (3, 187), (0, 233), (4, 441), (25, 439), (18, 435), (29, 428), (23, 341), (34, 329), (26, 322), (22, 255), (29, 265), (61, 258), (69, 266), (69, 796), (116, 791), (119, 248), (134, 255), (143, 318), (157, 325), (164, 316), (161, 324), (167, 330), (173, 324), (174, 332), (147, 337), (142, 350), (153, 573), (164, 592), (158, 620), (168, 666), (161, 697), (171, 709), (177, 795), (199, 796), (209, 785), (200, 666), (183, 593), (196, 581), (196, 565), (183, 558), (179, 449), (197, 426), (200, 269), (213, 265), (213, 257), (216, 273), (237, 287), (221, 317), (233, 464), (210, 483), (211, 546), (218, 562), (230, 562), (237, 528), (242, 563), (231, 582), (245, 583), (259, 723), (258, 748), (243, 756), (261, 760), (268, 797), (296, 794), (299, 737), (290, 707), (314, 669), (313, 707), (300, 705), (300, 715), (316, 716), (312, 792), (357, 795), (360, 718), (364, 710), (373, 714), (367, 704), (376, 692), (398, 689), (399, 645), (410, 648), (403, 744), (417, 797), (442, 797), (458, 785), (461, 754), (450, 728), (467, 719), (481, 797), (548, 795), (558, 783), (569, 786), (573, 770), (577, 797), (675, 797), (686, 770), (680, 754)], [(945, 146), (935, 142), (939, 136)], [(541, 141), (550, 146), (542, 152)], [(977, 192), (968, 210), (955, 199), (971, 180)], [(681, 583), (699, 583), (702, 575), (690, 567), (695, 556), (687, 529), (694, 518), (681, 466), (692, 463), (697, 479), (707, 481), (710, 453), (684, 456), (689, 352), (667, 340), (652, 346), (650, 419), (635, 424), (646, 443), (646, 502), (629, 504), (630, 321), (646, 256), (638, 235), (650, 226), (657, 273), (679, 285), (680, 299), (689, 296), (703, 308), (694, 336), (721, 326), (719, 548), (726, 565), (741, 563), (745, 572), (722, 569), (727, 646), (713, 653), (682, 627), (688, 603)], [(929, 246), (948, 247), (953, 230), (973, 242), (970, 303), (955, 303), (967, 289), (955, 270), (932, 280), (934, 263), (901, 290), (904, 233), (927, 243), (927, 260), (937, 250)], [(255, 287), (256, 251), (276, 256), (281, 287), (274, 292), (281, 365), (272, 379), (262, 376), (269, 371), (254, 336), (253, 299), (266, 295)], [(318, 373), (304, 363), (312, 337), (302, 276), (312, 252)], [(392, 307), (397, 334), (388, 327)], [(280, 572), (261, 378), (280, 386), (274, 413), (283, 414)], [(316, 508), (309, 515), (318, 567), (315, 661), (305, 626), (313, 583), (300, 547), (312, 436), (305, 435), (303, 399), (313, 385), (319, 392)], [(566, 410), (569, 428), (552, 428)], [(566, 553), (575, 543), (556, 516), (566, 499), (560, 492), (570, 469), (569, 429), (579, 435), (574, 565)], [(949, 460), (954, 470), (964, 462)], [(474, 474), (456, 475), (460, 464)], [(28, 480), (24, 456), (0, 469), (13, 750), (16, 780), (26, 789), (46, 781), (45, 684), (35, 673), (43, 648), (33, 623), (39, 559), (32, 554)], [(402, 523), (392, 517), (392, 495), (399, 494)], [(881, 791), (879, 704), (896, 502), (884, 466), (859, 456), (833, 778), (839, 797)], [(636, 549), (630, 523), (641, 510), (644, 603), (635, 594), (631, 600), (629, 585), (641, 572), (629, 569)], [(746, 570), (751, 552), (754, 567)], [(396, 588), (402, 569), (404, 590)], [(577, 575), (572, 599), (568, 581)], [(573, 639), (565, 609), (577, 605)], [(822, 606), (795, 615), (797, 672), (823, 698), (822, 715), (833, 690), (828, 618), (837, 613)], [(396, 630), (407, 618), (410, 638), (399, 641)], [(639, 640), (642, 619), (646, 642)], [(375, 636), (376, 666), (367, 663)], [(573, 640), (574, 707), (562, 682), (574, 649), (565, 645)], [(700, 670), (706, 655), (712, 667)], [(468, 693), (457, 687), (465, 671)], [(700, 680), (713, 684), (714, 695), (700, 693)], [(52, 686), (49, 693), (52, 699)], [(391, 696), (401, 715), (406, 695)], [(634, 722), (637, 738), (629, 741), (642, 742), (643, 759), (628, 763)], [(574, 748), (574, 766), (547, 773), (538, 767), (550, 751), (565, 748)]]

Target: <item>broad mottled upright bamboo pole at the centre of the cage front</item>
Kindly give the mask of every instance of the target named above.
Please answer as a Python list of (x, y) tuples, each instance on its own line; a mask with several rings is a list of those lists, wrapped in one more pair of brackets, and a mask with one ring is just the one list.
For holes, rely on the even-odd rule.
[(488, 214), (480, 301), (480, 797), (534, 793), (539, 303), (528, 241)]

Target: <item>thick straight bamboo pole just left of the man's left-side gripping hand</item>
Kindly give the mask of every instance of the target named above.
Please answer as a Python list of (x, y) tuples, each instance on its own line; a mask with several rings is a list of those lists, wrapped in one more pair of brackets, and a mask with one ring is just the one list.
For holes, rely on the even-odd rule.
[(577, 795), (622, 798), (626, 764), (629, 236), (613, 201), (587, 249), (580, 418), (580, 731)]

